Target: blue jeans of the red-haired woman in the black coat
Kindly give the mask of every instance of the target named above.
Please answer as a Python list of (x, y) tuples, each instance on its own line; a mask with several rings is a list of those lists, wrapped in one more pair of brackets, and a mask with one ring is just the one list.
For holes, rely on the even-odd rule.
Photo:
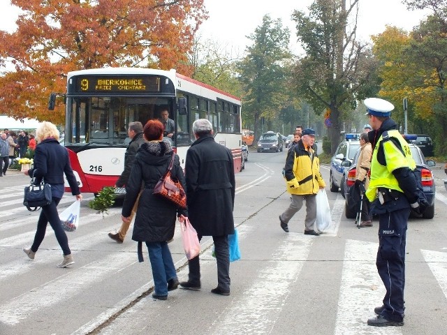
[(177, 272), (166, 241), (146, 242), (154, 278), (155, 294), (168, 295), (168, 281), (177, 278)]

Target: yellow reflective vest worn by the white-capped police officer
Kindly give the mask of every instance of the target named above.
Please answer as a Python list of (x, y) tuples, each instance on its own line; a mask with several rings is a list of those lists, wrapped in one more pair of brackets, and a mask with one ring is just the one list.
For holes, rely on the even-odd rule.
[[(383, 137), (386, 137), (385, 140)], [(397, 147), (395, 142), (390, 140), (391, 137), (400, 143), (400, 147)], [(377, 160), (377, 153), (379, 152), (380, 146), (383, 147), (386, 165), (381, 165)], [(389, 188), (403, 193), (399, 182), (393, 175), (393, 171), (399, 168), (410, 168), (414, 170), (416, 163), (411, 157), (411, 150), (408, 143), (400, 135), (399, 131), (385, 131), (379, 138), (379, 141), (377, 141), (376, 147), (374, 147), (374, 151), (372, 152), (371, 177), (366, 191), (366, 196), (369, 201), (372, 202), (376, 199), (377, 188), (379, 187)]]

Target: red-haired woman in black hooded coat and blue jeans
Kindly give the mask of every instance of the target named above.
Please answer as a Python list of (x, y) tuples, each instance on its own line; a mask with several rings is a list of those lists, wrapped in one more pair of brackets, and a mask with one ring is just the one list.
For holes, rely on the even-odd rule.
[[(160, 177), (168, 170), (173, 149), (163, 141), (163, 124), (150, 120), (143, 129), (147, 142), (141, 144), (135, 156), (129, 181), (126, 185), (126, 198), (122, 209), (123, 221), (129, 221), (133, 204), (141, 191), (137, 214), (133, 225), (132, 239), (138, 241), (138, 259), (142, 262), (142, 242), (146, 243), (154, 278), (154, 299), (166, 300), (168, 291), (179, 285), (177, 272), (168, 244), (174, 236), (176, 216), (187, 216), (186, 209), (177, 207), (160, 195), (152, 194)], [(184, 174), (179, 157), (175, 155), (172, 177), (179, 179), (184, 187)]]

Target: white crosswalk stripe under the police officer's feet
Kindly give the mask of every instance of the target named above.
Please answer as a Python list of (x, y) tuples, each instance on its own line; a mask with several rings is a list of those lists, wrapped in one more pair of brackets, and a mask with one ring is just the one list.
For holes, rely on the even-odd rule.
[(397, 327), (371, 327), (374, 307), (380, 306), (385, 288), (376, 268), (378, 243), (347, 240), (334, 335), (402, 334)]

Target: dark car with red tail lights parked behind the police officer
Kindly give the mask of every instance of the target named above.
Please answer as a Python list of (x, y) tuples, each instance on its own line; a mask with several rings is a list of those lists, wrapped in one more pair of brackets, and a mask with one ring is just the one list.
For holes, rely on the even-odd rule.
[[(423, 192), (425, 197), (427, 197), (427, 202), (430, 204), (429, 207), (423, 213), (423, 218), (433, 218), (434, 217), (434, 197), (436, 193), (436, 187), (434, 185), (434, 177), (432, 174), (432, 168), (436, 165), (434, 161), (426, 161), (423, 152), (420, 150), (418, 146), (415, 144), (409, 144), (411, 150), (411, 156), (413, 157), (416, 163), (416, 177), (420, 179)], [(356, 218), (356, 212), (351, 208), (351, 196), (349, 195), (349, 191), (351, 187), (356, 184), (356, 165), (358, 156), (360, 154), (360, 149), (356, 152), (354, 156), (353, 163), (348, 168), (346, 172), (346, 179), (344, 181), (344, 200), (345, 200), (345, 215), (346, 218)]]

